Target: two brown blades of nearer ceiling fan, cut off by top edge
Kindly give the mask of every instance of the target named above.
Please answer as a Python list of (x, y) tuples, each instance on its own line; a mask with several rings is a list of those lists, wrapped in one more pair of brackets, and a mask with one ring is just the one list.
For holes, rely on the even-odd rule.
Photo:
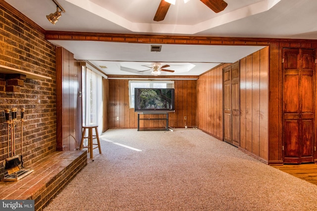
[[(167, 2), (170, 0), (161, 0), (159, 3), (158, 10), (154, 16), (155, 21), (162, 21), (165, 18), (167, 10), (170, 6), (170, 3)], [(187, 2), (188, 0), (186, 0)], [(224, 0), (201, 0), (204, 4), (206, 4), (209, 8), (211, 8), (215, 13), (221, 12), (228, 5)], [(175, 2), (175, 0), (174, 0)]]

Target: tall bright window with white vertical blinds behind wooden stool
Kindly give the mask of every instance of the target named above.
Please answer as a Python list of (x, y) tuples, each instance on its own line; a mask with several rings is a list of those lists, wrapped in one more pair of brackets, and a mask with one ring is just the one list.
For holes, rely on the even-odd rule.
[(102, 76), (92, 69), (82, 66), (83, 125), (98, 125), (102, 132), (103, 97)]

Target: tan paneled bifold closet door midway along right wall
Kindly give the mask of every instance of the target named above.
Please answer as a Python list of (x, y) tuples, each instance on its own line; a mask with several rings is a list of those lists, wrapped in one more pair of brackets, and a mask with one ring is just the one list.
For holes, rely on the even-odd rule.
[(240, 146), (240, 63), (223, 69), (223, 140)]

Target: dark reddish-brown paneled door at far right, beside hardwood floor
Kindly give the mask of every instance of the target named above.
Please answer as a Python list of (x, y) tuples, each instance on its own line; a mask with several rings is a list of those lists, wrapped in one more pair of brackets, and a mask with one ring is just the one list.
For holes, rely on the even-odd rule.
[(313, 162), (315, 50), (283, 49), (283, 162)]

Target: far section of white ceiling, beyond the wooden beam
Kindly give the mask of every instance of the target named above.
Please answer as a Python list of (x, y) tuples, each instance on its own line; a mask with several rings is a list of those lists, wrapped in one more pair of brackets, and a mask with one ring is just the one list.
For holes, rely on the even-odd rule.
[[(197, 76), (220, 63), (232, 63), (250, 55), (264, 46), (231, 46), (231, 45), (175, 45), (161, 44), (160, 52), (151, 52), (151, 44), (93, 42), (93, 41), (51, 41), (76, 52), (78, 60), (88, 60), (108, 75), (150, 75), (151, 71), (138, 72), (149, 68), (149, 65), (160, 62), (170, 65), (168, 70), (174, 73), (162, 72), (161, 75)], [(190, 64), (195, 65), (188, 69)]]

